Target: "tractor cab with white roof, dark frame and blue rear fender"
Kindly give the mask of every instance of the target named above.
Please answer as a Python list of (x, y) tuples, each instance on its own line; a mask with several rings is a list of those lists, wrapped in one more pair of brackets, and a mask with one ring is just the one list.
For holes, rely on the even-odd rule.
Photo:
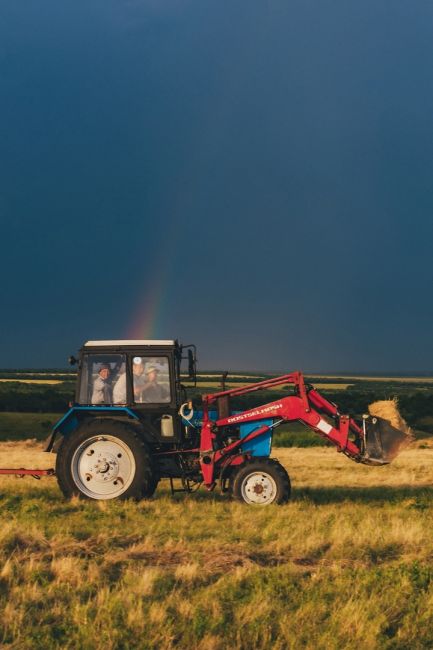
[(75, 402), (54, 426), (47, 451), (56, 448), (59, 436), (69, 436), (95, 418), (128, 420), (149, 444), (170, 446), (182, 440), (179, 410), (187, 393), (181, 371), (188, 381), (196, 381), (194, 345), (176, 340), (87, 341), (79, 358), (70, 357), (69, 363), (78, 364)]

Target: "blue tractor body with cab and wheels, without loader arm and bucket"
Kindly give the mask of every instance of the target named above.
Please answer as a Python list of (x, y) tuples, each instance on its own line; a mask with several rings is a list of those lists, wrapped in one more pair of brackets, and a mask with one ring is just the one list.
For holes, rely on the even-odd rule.
[(273, 420), (218, 427), (218, 418), (231, 414), (225, 395), (194, 411), (181, 383), (184, 359), (183, 376), (195, 381), (195, 346), (175, 340), (88, 341), (70, 358), (78, 363), (75, 402), (46, 449), (57, 453), (65, 496), (149, 498), (167, 478), (172, 491), (174, 479), (186, 491), (201, 483), (212, 490), (219, 481), (243, 501), (288, 500), (287, 472), (269, 458)]

